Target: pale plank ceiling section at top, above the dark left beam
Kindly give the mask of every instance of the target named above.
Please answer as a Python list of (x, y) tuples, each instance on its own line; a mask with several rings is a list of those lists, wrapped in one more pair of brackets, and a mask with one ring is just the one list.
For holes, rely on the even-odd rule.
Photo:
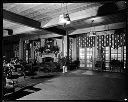
[(67, 3), (62, 6), (61, 3), (4, 3), (3, 9), (42, 22), (62, 14), (66, 11), (66, 5), (69, 13), (73, 13), (83, 10), (89, 4)]

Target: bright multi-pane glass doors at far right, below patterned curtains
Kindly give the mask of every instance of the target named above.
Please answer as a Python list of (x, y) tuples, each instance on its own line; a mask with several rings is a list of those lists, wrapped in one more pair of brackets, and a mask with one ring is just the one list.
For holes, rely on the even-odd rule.
[[(105, 68), (106, 71), (110, 71), (110, 61), (111, 60), (118, 60), (124, 62), (124, 68), (126, 63), (126, 46), (118, 47), (117, 49), (114, 49), (113, 47), (104, 47), (103, 50), (103, 56), (105, 58)], [(123, 68), (123, 69), (124, 69)], [(122, 72), (122, 68), (120, 67), (114, 68), (112, 70), (113, 72)]]

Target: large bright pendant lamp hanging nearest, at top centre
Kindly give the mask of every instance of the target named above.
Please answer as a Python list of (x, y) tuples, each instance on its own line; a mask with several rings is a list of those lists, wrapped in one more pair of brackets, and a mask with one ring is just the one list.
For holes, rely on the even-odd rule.
[[(64, 8), (64, 3), (61, 4), (61, 10), (62, 10), (62, 6)], [(62, 25), (67, 25), (67, 24), (70, 24), (71, 20), (70, 20), (70, 17), (69, 17), (69, 13), (68, 13), (68, 9), (67, 9), (67, 4), (66, 4), (66, 12), (63, 11), (63, 14), (61, 14), (59, 16), (59, 23), (62, 24)]]

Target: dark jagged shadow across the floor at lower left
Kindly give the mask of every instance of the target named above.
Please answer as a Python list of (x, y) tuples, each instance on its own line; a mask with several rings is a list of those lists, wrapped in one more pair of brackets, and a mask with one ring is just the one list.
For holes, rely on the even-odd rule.
[(16, 91), (16, 92), (13, 92), (11, 94), (4, 96), (3, 100), (7, 100), (7, 101), (8, 100), (16, 100), (16, 99), (19, 99), (26, 95), (29, 95), (31, 93), (37, 92), (41, 89), (33, 87), (34, 85), (37, 85), (39, 83), (45, 82), (49, 79), (52, 79), (52, 78), (55, 78), (58, 76), (59, 75), (50, 75), (50, 74), (45, 75), (45, 76), (33, 76), (26, 82), (20, 82), (20, 84), (18, 86), (19, 87), (24, 86), (24, 87), (21, 87), (21, 89), (19, 91)]

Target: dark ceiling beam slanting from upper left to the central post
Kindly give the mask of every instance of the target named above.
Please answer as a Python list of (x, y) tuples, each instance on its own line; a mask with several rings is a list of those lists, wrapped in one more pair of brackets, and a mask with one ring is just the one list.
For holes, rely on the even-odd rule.
[(27, 18), (27, 17), (24, 17), (24, 16), (21, 16), (21, 15), (18, 15), (18, 14), (15, 14), (13, 12), (10, 12), (10, 11), (4, 10), (4, 9), (3, 9), (3, 18), (7, 19), (9, 21), (20, 23), (20, 24), (23, 24), (23, 25), (26, 25), (26, 26), (29, 26), (29, 27), (33, 27), (33, 28), (37, 28), (37, 29), (40, 29), (40, 30), (46, 30), (48, 32), (57, 33), (57, 34), (60, 34), (60, 35), (65, 35), (66, 34), (65, 30), (59, 29), (59, 28), (56, 28), (56, 27), (45, 28), (45, 29), (41, 28), (41, 23), (40, 22), (35, 21), (33, 19), (30, 19), (30, 18)]

